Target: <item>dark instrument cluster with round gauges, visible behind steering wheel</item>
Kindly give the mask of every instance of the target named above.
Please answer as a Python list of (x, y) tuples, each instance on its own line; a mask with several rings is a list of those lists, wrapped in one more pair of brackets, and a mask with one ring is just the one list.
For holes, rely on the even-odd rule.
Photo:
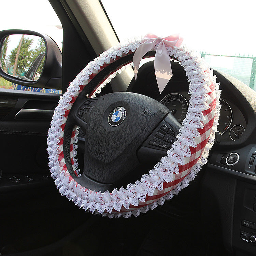
[[(177, 62), (172, 62), (173, 77), (160, 94), (154, 77), (154, 62), (145, 63), (138, 74), (137, 81), (132, 80), (128, 91), (144, 94), (165, 105), (174, 117), (182, 124), (186, 117), (189, 104), (189, 83), (186, 74)], [(141, 79), (140, 79), (141, 77)], [(146, 79), (145, 79), (146, 78)], [(222, 89), (222, 84), (220, 88)], [(236, 141), (243, 136), (247, 123), (242, 111), (238, 108), (236, 99), (222, 91), (221, 112), (218, 132), (222, 134), (222, 142)]]

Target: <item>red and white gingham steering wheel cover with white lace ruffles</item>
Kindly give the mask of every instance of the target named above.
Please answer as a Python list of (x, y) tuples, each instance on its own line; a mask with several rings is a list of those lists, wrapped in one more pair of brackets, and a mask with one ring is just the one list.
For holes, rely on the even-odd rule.
[[(218, 125), (220, 91), (216, 77), (199, 55), (184, 47), (167, 47), (170, 57), (173, 56), (184, 67), (190, 82), (189, 108), (183, 126), (176, 136), (178, 140), (153, 170), (144, 174), (135, 184), (129, 184), (126, 189), (121, 187), (119, 190), (115, 188), (111, 193), (109, 191), (101, 193), (77, 184), (68, 172), (63, 155), (65, 123), (72, 104), (93, 77), (110, 63), (134, 53), (139, 45), (140, 41), (118, 44), (89, 62), (70, 83), (67, 92), (61, 96), (48, 131), (49, 167), (61, 195), (65, 195), (84, 210), (109, 217), (138, 216), (141, 212), (145, 213), (158, 204), (163, 204), (166, 199), (172, 198), (182, 188), (187, 187), (201, 166), (207, 162)], [(152, 50), (155, 51), (157, 46)], [(115, 73), (110, 74), (108, 82)], [(104, 84), (105, 82), (100, 87)], [(96, 89), (92, 91), (90, 97)], [(73, 170), (79, 175), (75, 159), (77, 147), (75, 128), (70, 141), (70, 157)]]

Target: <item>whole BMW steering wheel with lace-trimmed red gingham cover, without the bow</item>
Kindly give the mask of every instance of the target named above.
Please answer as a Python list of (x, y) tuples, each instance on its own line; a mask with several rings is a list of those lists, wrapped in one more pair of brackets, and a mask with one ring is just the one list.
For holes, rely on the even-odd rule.
[[(144, 95), (94, 97), (131, 64), (139, 45), (118, 44), (89, 62), (61, 96), (48, 131), (49, 167), (61, 195), (109, 217), (138, 216), (188, 186), (207, 162), (218, 125), (216, 78), (200, 56), (184, 47), (167, 47), (190, 82), (182, 126), (164, 105)], [(145, 57), (153, 56), (156, 47)], [(75, 158), (77, 126), (86, 134), (82, 174)]]

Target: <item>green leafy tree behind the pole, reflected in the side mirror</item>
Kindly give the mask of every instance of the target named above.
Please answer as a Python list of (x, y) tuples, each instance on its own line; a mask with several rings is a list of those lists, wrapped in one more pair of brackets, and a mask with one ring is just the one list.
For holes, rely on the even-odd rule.
[(32, 54), (32, 50), (30, 50), (30, 46), (33, 43), (33, 39), (29, 39), (29, 38), (23, 38), (22, 39), (22, 43), (20, 45), (17, 45), (17, 47), (15, 47), (10, 54), (10, 65), (14, 66), (15, 64), (15, 59), (16, 59), (16, 55), (18, 52), (18, 48), (20, 46), (19, 49), (19, 53), (18, 53), (18, 59), (17, 59), (17, 72), (18, 74), (22, 73), (22, 72), (26, 72), (27, 69), (30, 67), (31, 65), (31, 54)]

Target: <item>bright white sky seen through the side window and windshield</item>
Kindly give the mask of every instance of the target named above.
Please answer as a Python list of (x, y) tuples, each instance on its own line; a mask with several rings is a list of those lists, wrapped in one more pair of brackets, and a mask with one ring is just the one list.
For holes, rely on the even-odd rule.
[[(61, 23), (47, 0), (1, 1), (0, 30), (46, 33), (61, 48)], [(94, 0), (97, 1), (97, 0)], [(256, 55), (252, 0), (102, 0), (120, 41), (148, 32), (166, 37), (180, 33), (198, 52)]]

